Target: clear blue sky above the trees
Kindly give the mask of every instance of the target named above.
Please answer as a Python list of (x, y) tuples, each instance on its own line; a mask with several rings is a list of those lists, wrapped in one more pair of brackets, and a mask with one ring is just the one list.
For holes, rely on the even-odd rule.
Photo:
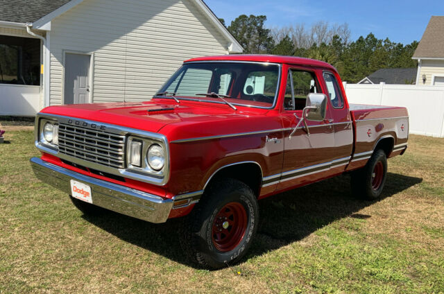
[(352, 40), (373, 33), (378, 39), (410, 44), (419, 41), (432, 15), (444, 15), (444, 0), (434, 1), (306, 1), (205, 0), (225, 24), (241, 14), (266, 15), (266, 26), (289, 26), (316, 21), (348, 23)]

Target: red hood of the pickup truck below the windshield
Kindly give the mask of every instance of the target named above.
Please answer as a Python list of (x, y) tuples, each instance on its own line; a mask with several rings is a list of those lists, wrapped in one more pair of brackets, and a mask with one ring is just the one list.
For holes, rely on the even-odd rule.
[(50, 106), (42, 113), (69, 116), (77, 119), (110, 123), (112, 125), (159, 132), (171, 123), (201, 123), (230, 118), (249, 117), (266, 113), (266, 110), (232, 110), (228, 105), (181, 101), (171, 103), (167, 99), (156, 99), (142, 103), (94, 103)]

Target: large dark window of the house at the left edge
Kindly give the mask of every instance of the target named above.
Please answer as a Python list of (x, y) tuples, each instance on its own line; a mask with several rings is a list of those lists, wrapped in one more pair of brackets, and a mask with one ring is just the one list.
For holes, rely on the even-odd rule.
[(40, 85), (40, 40), (0, 35), (0, 84)]

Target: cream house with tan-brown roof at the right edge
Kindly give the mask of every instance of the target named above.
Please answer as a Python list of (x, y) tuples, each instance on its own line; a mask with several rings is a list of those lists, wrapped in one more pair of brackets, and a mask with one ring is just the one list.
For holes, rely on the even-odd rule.
[(418, 60), (416, 85), (444, 85), (444, 16), (430, 19), (413, 59)]

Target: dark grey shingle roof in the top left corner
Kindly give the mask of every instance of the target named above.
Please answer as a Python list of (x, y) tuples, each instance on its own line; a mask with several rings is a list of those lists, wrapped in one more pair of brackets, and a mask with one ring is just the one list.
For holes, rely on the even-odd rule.
[(71, 0), (0, 0), (0, 21), (25, 24), (41, 19)]

